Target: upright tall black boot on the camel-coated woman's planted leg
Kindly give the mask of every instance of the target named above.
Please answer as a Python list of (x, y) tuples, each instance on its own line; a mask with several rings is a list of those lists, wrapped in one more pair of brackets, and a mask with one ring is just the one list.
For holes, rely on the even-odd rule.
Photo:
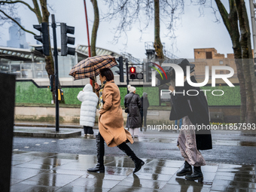
[(96, 136), (96, 147), (97, 147), (97, 160), (98, 163), (94, 168), (87, 169), (88, 172), (105, 172), (105, 166), (104, 166), (104, 139), (98, 134)]

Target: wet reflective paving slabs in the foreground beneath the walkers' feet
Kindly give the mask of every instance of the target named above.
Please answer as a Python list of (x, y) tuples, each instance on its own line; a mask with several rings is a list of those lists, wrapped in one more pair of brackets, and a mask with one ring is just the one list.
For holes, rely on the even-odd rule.
[[(143, 159), (143, 158), (142, 158)], [(175, 174), (182, 161), (143, 159), (133, 174), (129, 157), (105, 157), (105, 173), (90, 173), (95, 155), (14, 151), (11, 191), (255, 191), (254, 166), (209, 163), (204, 181), (187, 181)]]

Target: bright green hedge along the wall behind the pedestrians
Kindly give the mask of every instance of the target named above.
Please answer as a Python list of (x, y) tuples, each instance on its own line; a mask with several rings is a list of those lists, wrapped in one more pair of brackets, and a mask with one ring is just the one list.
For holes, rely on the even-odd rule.
[[(64, 98), (66, 104), (81, 104), (78, 101), (77, 96), (79, 91), (83, 87), (63, 87)], [(209, 105), (240, 105), (240, 94), (239, 86), (228, 87), (228, 86), (218, 86), (218, 87), (201, 87), (206, 91), (206, 96)], [(223, 90), (223, 96), (213, 96), (212, 90)], [(151, 106), (159, 105), (159, 91), (158, 87), (136, 87), (136, 93), (142, 96), (142, 93), (148, 93), (148, 101)], [(120, 87), (121, 105), (123, 105), (124, 96), (126, 96), (126, 87)], [(221, 92), (215, 92), (215, 94), (220, 94)], [(50, 104), (52, 100), (52, 94), (49, 88), (38, 88), (30, 81), (17, 81), (16, 83), (16, 98), (17, 103), (41, 103)]]

